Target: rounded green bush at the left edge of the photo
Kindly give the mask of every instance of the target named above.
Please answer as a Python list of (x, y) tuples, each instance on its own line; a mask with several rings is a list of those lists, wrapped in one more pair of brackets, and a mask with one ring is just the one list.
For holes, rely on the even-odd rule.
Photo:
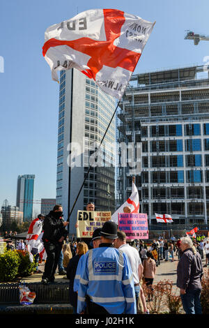
[(0, 283), (14, 281), (19, 265), (20, 256), (16, 251), (6, 251), (0, 254)]

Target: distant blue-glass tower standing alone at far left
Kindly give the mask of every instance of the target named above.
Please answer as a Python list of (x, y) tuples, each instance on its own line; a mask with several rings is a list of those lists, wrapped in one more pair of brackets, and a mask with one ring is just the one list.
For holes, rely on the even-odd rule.
[(16, 206), (23, 212), (23, 220), (33, 217), (33, 188), (35, 175), (24, 174), (17, 178)]

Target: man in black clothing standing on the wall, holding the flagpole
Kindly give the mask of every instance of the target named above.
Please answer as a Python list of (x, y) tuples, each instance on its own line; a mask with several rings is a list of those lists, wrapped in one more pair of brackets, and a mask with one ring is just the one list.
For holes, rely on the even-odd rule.
[(63, 240), (68, 234), (68, 231), (65, 230), (67, 225), (68, 222), (63, 221), (63, 208), (59, 204), (55, 205), (53, 211), (50, 211), (45, 217), (42, 236), (47, 253), (45, 271), (42, 275), (42, 283), (45, 285), (54, 282), (54, 274), (63, 246)]

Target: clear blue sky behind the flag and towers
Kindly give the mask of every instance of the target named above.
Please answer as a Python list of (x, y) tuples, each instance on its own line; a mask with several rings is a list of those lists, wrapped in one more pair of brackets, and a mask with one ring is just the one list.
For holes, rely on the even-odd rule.
[(15, 205), (19, 174), (36, 174), (34, 200), (56, 195), (59, 84), (42, 57), (44, 33), (91, 8), (116, 8), (156, 21), (134, 73), (203, 65), (209, 56), (208, 41), (194, 46), (184, 40), (187, 29), (209, 35), (208, 0), (1, 1), (0, 207), (5, 199)]

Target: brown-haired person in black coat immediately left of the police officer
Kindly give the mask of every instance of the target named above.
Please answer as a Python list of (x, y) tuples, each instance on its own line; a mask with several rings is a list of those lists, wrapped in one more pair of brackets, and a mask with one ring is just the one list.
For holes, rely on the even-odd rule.
[(70, 259), (67, 267), (67, 278), (70, 280), (69, 285), (69, 296), (70, 296), (70, 304), (73, 308), (73, 314), (77, 314), (77, 292), (73, 290), (73, 284), (75, 279), (75, 274), (77, 270), (77, 264), (79, 262), (79, 258), (88, 252), (88, 246), (84, 241), (81, 241), (77, 244), (76, 255)]

